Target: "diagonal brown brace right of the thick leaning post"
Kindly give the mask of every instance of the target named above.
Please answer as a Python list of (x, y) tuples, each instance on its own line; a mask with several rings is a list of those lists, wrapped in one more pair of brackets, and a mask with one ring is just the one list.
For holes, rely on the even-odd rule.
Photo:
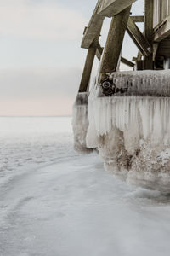
[(127, 32), (129, 36), (133, 39), (134, 44), (138, 47), (141, 54), (150, 55), (151, 45), (142, 32), (140, 32), (138, 26), (134, 23), (131, 17), (129, 17), (127, 22)]

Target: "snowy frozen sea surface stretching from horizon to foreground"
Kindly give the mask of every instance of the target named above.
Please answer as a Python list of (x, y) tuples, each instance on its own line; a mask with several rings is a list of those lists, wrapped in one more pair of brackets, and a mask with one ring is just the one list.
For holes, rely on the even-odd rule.
[(170, 196), (73, 150), (71, 118), (0, 118), (0, 256), (169, 256)]

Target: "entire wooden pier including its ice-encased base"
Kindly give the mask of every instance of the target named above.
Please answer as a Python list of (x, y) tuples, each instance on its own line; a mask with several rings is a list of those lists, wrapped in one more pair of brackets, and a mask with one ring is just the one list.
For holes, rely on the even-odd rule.
[[(128, 183), (170, 192), (170, 0), (144, 0), (144, 12), (135, 16), (137, 1), (99, 0), (84, 30), (88, 54), (73, 108), (75, 148), (97, 150), (105, 170)], [(105, 17), (111, 26), (103, 47)], [(125, 32), (138, 48), (132, 60), (122, 55)], [(99, 72), (89, 90), (95, 56)], [(120, 62), (131, 71), (120, 71)]]

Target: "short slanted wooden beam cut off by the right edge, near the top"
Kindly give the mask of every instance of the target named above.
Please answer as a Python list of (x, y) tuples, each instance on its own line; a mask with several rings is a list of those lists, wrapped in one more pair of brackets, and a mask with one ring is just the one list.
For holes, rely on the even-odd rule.
[(161, 42), (170, 35), (170, 15), (154, 28), (154, 42)]

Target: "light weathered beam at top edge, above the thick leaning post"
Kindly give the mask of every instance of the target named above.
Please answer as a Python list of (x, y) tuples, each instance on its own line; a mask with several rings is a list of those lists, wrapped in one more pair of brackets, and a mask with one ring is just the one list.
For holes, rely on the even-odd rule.
[(98, 15), (113, 17), (134, 2), (136, 0), (102, 0), (99, 4)]

